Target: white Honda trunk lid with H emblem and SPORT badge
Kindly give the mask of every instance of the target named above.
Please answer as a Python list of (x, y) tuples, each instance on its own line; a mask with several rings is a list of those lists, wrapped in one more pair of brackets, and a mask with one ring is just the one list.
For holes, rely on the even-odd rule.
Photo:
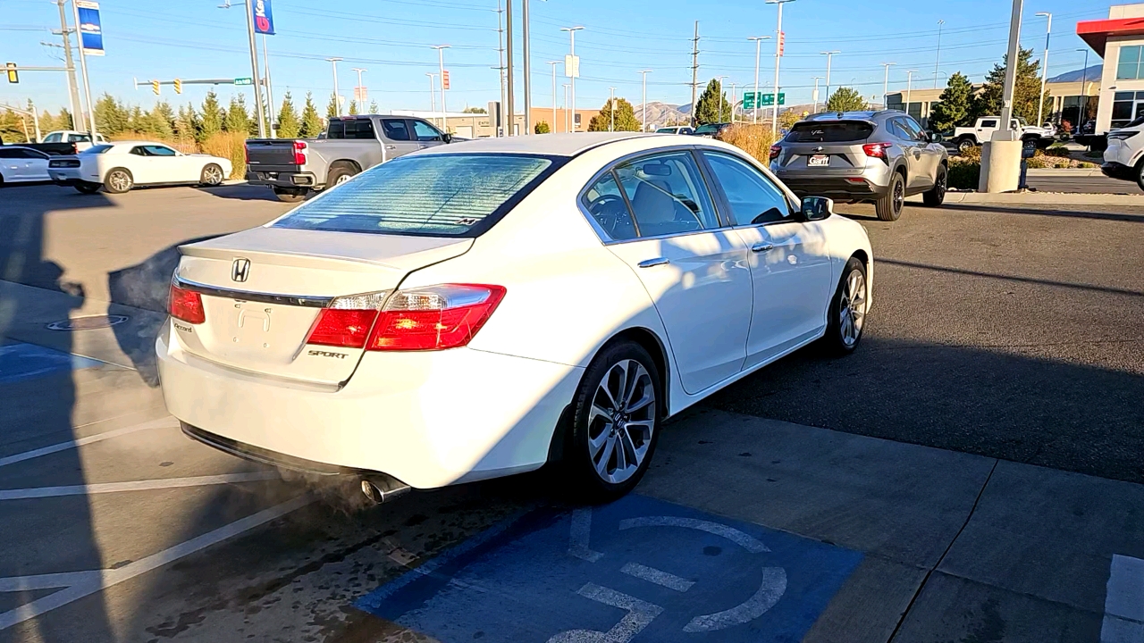
[(176, 280), (200, 293), (206, 322), (176, 319), (175, 332), (198, 358), (336, 384), (352, 375), (363, 349), (307, 344), (331, 300), (392, 291), (411, 271), (471, 245), (468, 238), (255, 228), (180, 246)]

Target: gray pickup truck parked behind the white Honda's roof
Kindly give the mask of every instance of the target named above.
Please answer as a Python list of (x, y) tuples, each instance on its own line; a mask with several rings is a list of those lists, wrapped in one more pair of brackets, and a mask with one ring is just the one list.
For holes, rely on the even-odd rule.
[(329, 119), (318, 138), (251, 138), (246, 142), (246, 180), (269, 185), (283, 201), (300, 201), (389, 159), (452, 143), (420, 118), (345, 116)]

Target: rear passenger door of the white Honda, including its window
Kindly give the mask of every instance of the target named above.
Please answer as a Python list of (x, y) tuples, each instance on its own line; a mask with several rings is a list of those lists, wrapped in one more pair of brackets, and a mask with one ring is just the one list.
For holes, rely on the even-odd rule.
[(582, 203), (654, 302), (683, 390), (738, 374), (750, 327), (747, 248), (718, 219), (693, 152), (621, 162)]

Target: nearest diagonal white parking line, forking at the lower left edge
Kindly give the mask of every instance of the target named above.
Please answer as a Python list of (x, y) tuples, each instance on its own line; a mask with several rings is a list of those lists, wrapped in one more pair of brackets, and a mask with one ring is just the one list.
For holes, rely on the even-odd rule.
[[(95, 594), (117, 585), (125, 580), (135, 578), (142, 573), (146, 573), (151, 570), (173, 563), (184, 556), (189, 556), (200, 549), (206, 549), (212, 545), (216, 545), (238, 535), (245, 531), (252, 530), (263, 523), (268, 523), (275, 518), (280, 518), (286, 514), (300, 509), (310, 502), (312, 498), (309, 495), (300, 495), (293, 500), (283, 502), (281, 505), (276, 505), (269, 509), (263, 509), (257, 514), (247, 516), (243, 519), (235, 521), (228, 525), (221, 526), (214, 531), (204, 533), (200, 537), (192, 538), (185, 542), (181, 542), (168, 549), (164, 549), (158, 554), (152, 554), (145, 558), (140, 558), (134, 563), (129, 563), (119, 569), (114, 570), (94, 570), (90, 572), (69, 572), (72, 578), (69, 581), (74, 581), (74, 585), (69, 585), (65, 589), (61, 589), (54, 594), (49, 594), (41, 598), (37, 598), (31, 603), (21, 605), (15, 610), (9, 610), (7, 612), (0, 613), (0, 629), (9, 628), (16, 624), (23, 622), (27, 619), (38, 617), (45, 612), (55, 610), (74, 601), (78, 601), (85, 596)], [(69, 574), (42, 574), (40, 577), (13, 577), (13, 578), (0, 578), (0, 588), (17, 587), (18, 584), (29, 579), (27, 582), (35, 584), (37, 579), (43, 579), (43, 577), (64, 577)], [(63, 580), (62, 578), (59, 580)], [(41, 581), (42, 582), (42, 581)], [(49, 581), (50, 582), (50, 581)], [(41, 588), (46, 588), (42, 585)]]

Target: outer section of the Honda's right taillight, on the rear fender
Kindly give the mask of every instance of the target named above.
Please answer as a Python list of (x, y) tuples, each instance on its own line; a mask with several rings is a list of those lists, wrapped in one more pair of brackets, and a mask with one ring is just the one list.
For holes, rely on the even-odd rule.
[(469, 343), (505, 299), (503, 286), (444, 284), (398, 291), (386, 302), (367, 350), (442, 350)]

